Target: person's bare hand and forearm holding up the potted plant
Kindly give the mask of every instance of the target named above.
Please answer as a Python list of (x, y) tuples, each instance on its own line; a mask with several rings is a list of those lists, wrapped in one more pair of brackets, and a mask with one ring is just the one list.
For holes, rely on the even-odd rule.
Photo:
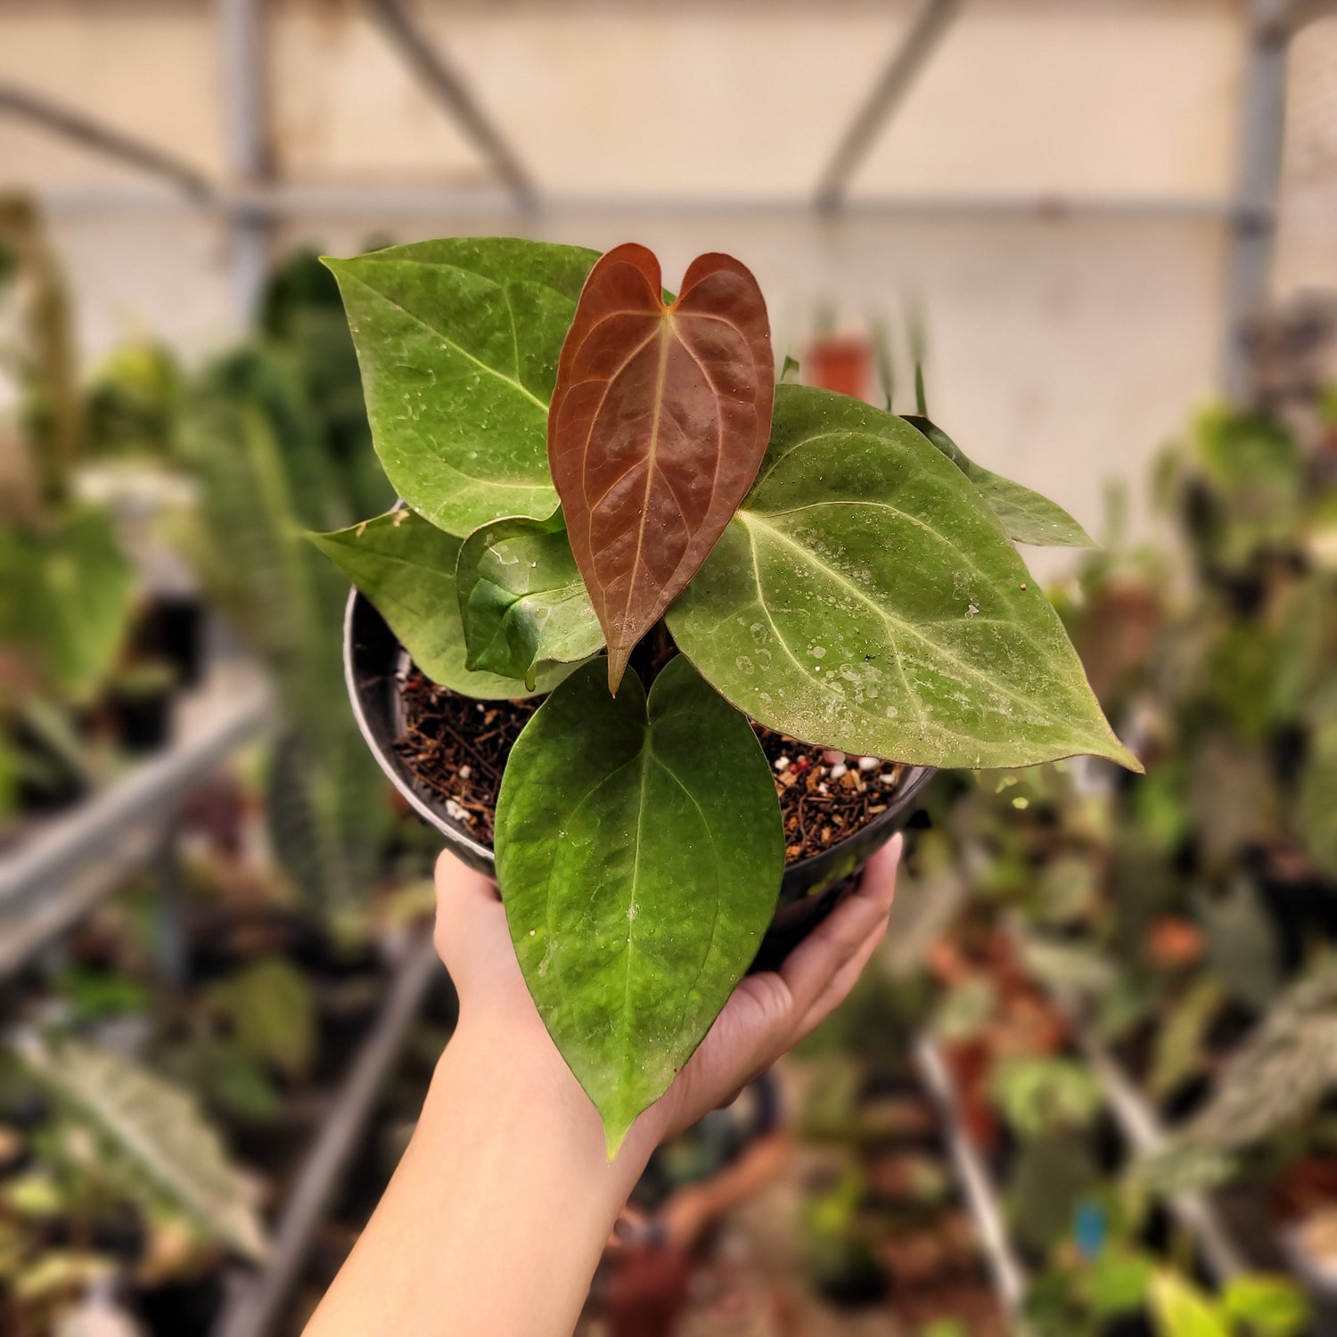
[(436, 943), (460, 1024), (408, 1150), (306, 1337), (570, 1333), (655, 1146), (727, 1100), (849, 992), (886, 929), (898, 854), (900, 838), (781, 971), (738, 985), (611, 1166), (599, 1116), (520, 977), (496, 888), (443, 857)]

